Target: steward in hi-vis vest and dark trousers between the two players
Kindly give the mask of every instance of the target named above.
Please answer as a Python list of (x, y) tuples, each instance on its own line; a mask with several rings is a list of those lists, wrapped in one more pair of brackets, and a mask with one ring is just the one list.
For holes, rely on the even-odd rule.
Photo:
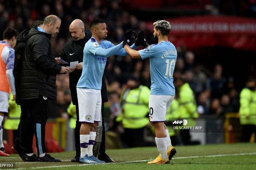
[(128, 147), (144, 146), (144, 128), (149, 124), (148, 100), (150, 89), (139, 85), (136, 77), (128, 79), (127, 88), (121, 94), (122, 113), (116, 121), (122, 121), (125, 129), (124, 141)]

